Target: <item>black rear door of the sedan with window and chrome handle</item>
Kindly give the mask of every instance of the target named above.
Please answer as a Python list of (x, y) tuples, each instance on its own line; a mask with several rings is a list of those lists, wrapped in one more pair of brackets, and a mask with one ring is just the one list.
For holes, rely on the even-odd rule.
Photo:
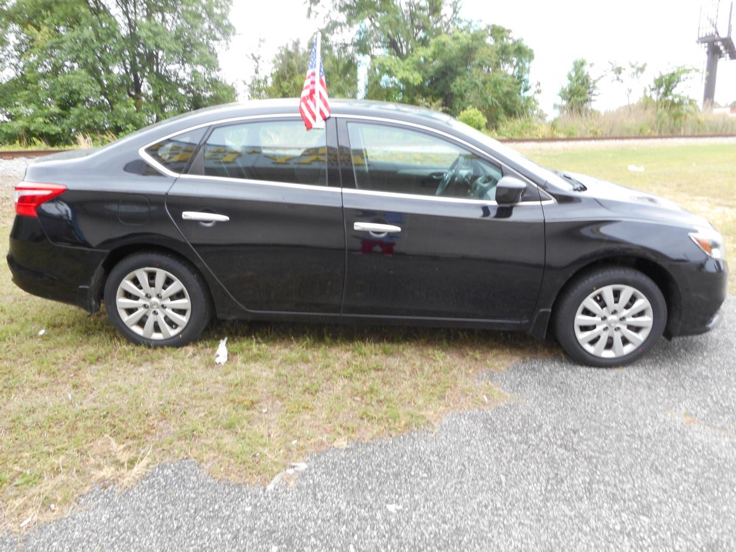
[[(298, 117), (215, 125), (166, 197), (174, 224), (249, 311), (339, 314), (344, 226), (328, 129)], [(153, 152), (152, 155), (166, 152)]]

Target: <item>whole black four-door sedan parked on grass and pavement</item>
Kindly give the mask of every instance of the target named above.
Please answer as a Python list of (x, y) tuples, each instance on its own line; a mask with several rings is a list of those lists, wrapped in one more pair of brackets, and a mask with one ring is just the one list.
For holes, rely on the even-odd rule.
[(297, 99), (199, 110), (42, 158), (7, 262), (29, 293), (182, 345), (213, 317), (553, 332), (626, 364), (710, 330), (723, 240), (658, 197), (537, 166), (442, 113)]

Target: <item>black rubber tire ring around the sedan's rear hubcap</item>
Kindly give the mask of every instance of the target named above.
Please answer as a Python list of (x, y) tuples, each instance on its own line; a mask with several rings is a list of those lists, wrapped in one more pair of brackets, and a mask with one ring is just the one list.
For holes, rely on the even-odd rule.
[[(185, 291), (180, 292), (172, 297), (179, 297), (180, 299), (187, 300), (189, 302), (188, 321), (186, 323), (181, 322), (181, 325), (176, 325), (171, 319), (166, 318), (167, 327), (171, 323), (171, 328), (177, 333), (169, 338), (163, 336), (163, 331), (160, 329), (156, 331), (156, 335), (160, 333), (158, 339), (149, 339), (135, 330), (129, 328), (118, 311), (117, 307), (117, 295), (118, 287), (121, 286), (123, 280), (128, 277), (132, 272), (138, 269), (160, 269), (169, 273), (169, 275), (175, 277), (183, 285)], [(172, 280), (166, 280), (171, 285)], [(140, 286), (139, 286), (140, 287)], [(143, 291), (143, 290), (141, 290)], [(164, 294), (165, 294), (164, 289)], [(185, 297), (188, 296), (188, 297)], [(132, 294), (127, 294), (132, 300), (138, 300)], [(199, 337), (202, 330), (212, 319), (213, 308), (210, 300), (210, 293), (208, 286), (197, 271), (189, 266), (185, 261), (181, 261), (179, 258), (166, 253), (158, 252), (141, 252), (129, 255), (119, 261), (113, 269), (110, 271), (110, 275), (107, 277), (105, 282), (105, 310), (107, 316), (110, 318), (110, 322), (113, 323), (118, 331), (128, 340), (135, 344), (143, 344), (148, 347), (181, 347), (182, 345), (188, 344), (194, 339)], [(144, 300), (144, 299), (141, 299)], [(163, 300), (162, 300), (163, 304)], [(153, 303), (149, 303), (149, 306), (153, 308)], [(169, 311), (163, 310), (165, 307), (161, 307), (160, 311), (155, 312), (156, 316), (168, 316), (166, 313)], [(124, 314), (135, 312), (135, 309), (130, 311), (124, 311)], [(182, 314), (185, 311), (173, 311), (174, 314)], [(186, 314), (186, 313), (185, 313)], [(173, 316), (173, 314), (172, 314)], [(144, 314), (142, 320), (146, 321), (148, 316)], [(155, 328), (160, 328), (158, 322), (155, 322)], [(171, 331), (169, 328), (169, 331)]]

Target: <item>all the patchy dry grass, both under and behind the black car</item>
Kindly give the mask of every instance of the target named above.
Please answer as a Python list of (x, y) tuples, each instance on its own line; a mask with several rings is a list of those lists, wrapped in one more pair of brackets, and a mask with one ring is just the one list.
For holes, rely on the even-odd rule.
[[(679, 201), (715, 222), (736, 252), (736, 146), (526, 153)], [(628, 171), (632, 163), (645, 171)], [(223, 336), (230, 358), (219, 367)], [(93, 484), (135, 484), (161, 461), (193, 458), (216, 477), (265, 483), (310, 453), (497, 403), (503, 394), (484, 372), (559, 354), (520, 334), (262, 323), (220, 323), (196, 344), (149, 350), (124, 342), (103, 314), (25, 294), (2, 263), (0, 532), (65, 514)]]

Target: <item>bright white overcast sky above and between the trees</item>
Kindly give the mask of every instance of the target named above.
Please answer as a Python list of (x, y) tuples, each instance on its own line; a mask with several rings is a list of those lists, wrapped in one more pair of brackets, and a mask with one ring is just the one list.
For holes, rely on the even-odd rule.
[[(725, 20), (729, 0), (721, 0), (721, 4), (721, 12), (725, 13), (721, 19)], [(644, 85), (650, 84), (659, 71), (679, 65), (696, 67), (701, 74), (693, 77), (686, 92), (700, 103), (705, 65), (704, 49), (696, 43), (700, 10), (700, 0), (464, 0), (461, 15), (484, 24), (506, 26), (534, 49), (531, 80), (539, 82), (542, 90), (537, 96), (540, 107), (553, 115), (553, 105), (559, 102), (557, 93), (577, 57), (594, 64), (594, 75), (606, 71), (609, 60), (623, 66), (629, 61), (647, 63), (645, 76), (634, 85), (632, 101), (641, 96)], [(237, 35), (220, 62), (225, 79), (237, 86), (240, 99), (247, 97), (242, 81), (252, 75), (247, 56), (258, 49), (259, 38), (264, 40), (262, 54), (268, 61), (278, 46), (294, 38), (304, 42), (316, 29), (314, 21), (306, 21), (303, 0), (233, 0), (230, 20)], [(326, 77), (329, 91), (330, 75)], [(596, 109), (626, 105), (626, 87), (604, 77), (599, 88)], [(734, 100), (736, 60), (721, 60), (715, 101)]]

